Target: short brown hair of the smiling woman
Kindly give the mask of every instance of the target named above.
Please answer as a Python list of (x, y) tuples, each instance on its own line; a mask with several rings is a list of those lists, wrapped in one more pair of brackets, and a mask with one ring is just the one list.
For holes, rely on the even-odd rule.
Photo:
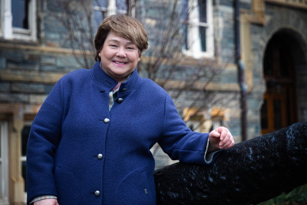
[(126, 38), (138, 46), (138, 54), (148, 48), (148, 38), (142, 23), (131, 16), (124, 14), (114, 14), (103, 19), (99, 25), (94, 39), (96, 49), (95, 60), (99, 60), (99, 52), (103, 47), (103, 43), (109, 33), (113, 33), (120, 37)]

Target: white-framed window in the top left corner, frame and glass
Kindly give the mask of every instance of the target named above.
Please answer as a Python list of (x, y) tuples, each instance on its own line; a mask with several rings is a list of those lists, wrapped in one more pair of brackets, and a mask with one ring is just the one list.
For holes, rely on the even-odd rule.
[(36, 41), (36, 0), (2, 0), (0, 7), (1, 37)]

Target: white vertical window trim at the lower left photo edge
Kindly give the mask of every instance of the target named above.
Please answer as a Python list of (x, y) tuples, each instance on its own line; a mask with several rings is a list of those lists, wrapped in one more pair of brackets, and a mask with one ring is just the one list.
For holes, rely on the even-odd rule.
[(8, 124), (7, 122), (0, 122), (0, 140), (1, 140), (1, 171), (2, 180), (0, 188), (0, 205), (9, 204), (9, 143), (8, 143)]

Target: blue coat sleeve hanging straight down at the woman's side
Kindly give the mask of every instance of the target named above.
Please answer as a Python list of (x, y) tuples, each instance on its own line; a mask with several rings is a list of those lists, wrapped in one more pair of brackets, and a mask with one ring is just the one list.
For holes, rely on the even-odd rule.
[(53, 177), (54, 153), (60, 141), (64, 112), (60, 79), (42, 104), (27, 144), (27, 203), (41, 195), (57, 196)]

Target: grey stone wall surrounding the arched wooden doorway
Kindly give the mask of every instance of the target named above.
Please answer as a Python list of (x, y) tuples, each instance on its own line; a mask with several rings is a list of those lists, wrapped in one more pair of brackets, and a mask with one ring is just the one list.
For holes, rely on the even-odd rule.
[[(249, 113), (258, 115), (248, 120), (249, 133), (254, 129), (261, 134), (260, 109), (262, 106), (262, 95), (266, 90), (263, 80), (263, 58), (266, 45), (271, 37), (279, 31), (287, 32), (296, 42), (293, 42), (293, 57), (296, 73), (297, 86), (297, 116), (298, 122), (306, 121), (306, 72), (307, 72), (307, 11), (284, 7), (276, 4), (267, 3), (265, 5), (265, 25), (251, 24), (251, 61), (253, 70), (254, 87), (253, 92), (249, 94)], [(258, 113), (258, 114), (257, 114)]]

